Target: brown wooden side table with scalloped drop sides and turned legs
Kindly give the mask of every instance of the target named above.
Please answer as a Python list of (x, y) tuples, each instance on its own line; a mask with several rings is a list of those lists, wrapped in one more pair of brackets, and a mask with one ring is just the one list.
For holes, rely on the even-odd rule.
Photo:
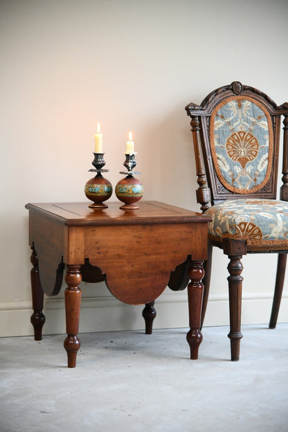
[[(158, 201), (142, 201), (138, 210), (130, 211), (120, 210), (119, 202), (109, 203), (105, 210), (93, 210), (87, 203), (27, 204), (26, 208), (35, 340), (42, 339), (44, 292), (48, 296), (59, 293), (64, 267), (64, 348), (69, 368), (75, 367), (80, 348), (81, 280), (105, 280), (119, 300), (145, 304), (143, 316), (149, 333), (155, 316), (154, 300), (168, 284), (174, 290), (183, 289), (190, 279), (187, 341), (191, 359), (197, 359), (210, 217)], [(187, 273), (183, 269), (188, 262)]]

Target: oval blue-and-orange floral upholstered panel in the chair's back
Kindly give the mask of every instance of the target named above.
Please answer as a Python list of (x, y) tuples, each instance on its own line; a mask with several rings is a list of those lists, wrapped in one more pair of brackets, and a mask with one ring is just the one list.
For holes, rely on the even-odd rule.
[(227, 98), (213, 111), (210, 146), (217, 176), (226, 189), (253, 193), (267, 183), (272, 166), (271, 117), (260, 102)]

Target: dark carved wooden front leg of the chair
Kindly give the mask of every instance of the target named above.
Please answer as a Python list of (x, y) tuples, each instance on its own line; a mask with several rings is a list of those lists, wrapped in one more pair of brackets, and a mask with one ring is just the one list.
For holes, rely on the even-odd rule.
[(241, 303), (242, 303), (242, 255), (228, 256), (228, 286), (230, 307), (230, 332), (228, 338), (231, 341), (231, 360), (238, 361), (240, 357), (241, 333)]

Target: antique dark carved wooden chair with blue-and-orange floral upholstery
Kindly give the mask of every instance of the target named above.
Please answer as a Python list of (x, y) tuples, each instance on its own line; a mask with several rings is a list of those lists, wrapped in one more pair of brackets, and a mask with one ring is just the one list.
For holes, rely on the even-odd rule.
[[(242, 255), (278, 253), (270, 328), (276, 327), (288, 252), (288, 104), (234, 81), (211, 92), (191, 117), (197, 169), (197, 202), (213, 217), (204, 277), (204, 320), (212, 248), (228, 255), (231, 360), (240, 356)], [(284, 116), (282, 186), (276, 199), (280, 121)], [(209, 205), (210, 203), (210, 205)]]

